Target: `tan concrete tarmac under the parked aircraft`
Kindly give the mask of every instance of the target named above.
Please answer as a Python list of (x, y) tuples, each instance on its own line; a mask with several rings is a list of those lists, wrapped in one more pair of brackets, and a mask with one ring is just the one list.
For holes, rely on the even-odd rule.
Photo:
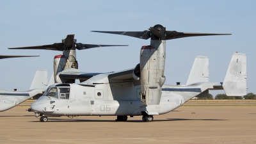
[(256, 143), (256, 106), (180, 107), (154, 122), (141, 116), (49, 118), (16, 107), (0, 113), (0, 143)]

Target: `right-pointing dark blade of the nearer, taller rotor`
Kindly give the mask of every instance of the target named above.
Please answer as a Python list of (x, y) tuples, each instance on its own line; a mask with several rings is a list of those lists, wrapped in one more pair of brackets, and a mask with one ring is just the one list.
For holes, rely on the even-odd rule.
[(211, 35), (232, 35), (229, 33), (185, 33), (177, 31), (166, 31), (166, 40), (185, 38), (189, 36), (211, 36)]

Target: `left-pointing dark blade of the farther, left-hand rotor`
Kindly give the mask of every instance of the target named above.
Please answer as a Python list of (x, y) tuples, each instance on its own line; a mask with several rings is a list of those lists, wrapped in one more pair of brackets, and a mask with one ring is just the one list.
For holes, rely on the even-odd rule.
[(32, 47), (12, 47), (8, 49), (47, 49), (53, 51), (63, 51), (63, 43), (54, 43), (52, 45), (38, 45)]

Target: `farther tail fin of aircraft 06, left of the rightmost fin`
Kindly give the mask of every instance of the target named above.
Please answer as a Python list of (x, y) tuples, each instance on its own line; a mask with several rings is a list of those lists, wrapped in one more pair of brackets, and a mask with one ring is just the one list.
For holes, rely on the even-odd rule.
[(186, 85), (196, 82), (209, 82), (209, 57), (207, 56), (196, 56)]

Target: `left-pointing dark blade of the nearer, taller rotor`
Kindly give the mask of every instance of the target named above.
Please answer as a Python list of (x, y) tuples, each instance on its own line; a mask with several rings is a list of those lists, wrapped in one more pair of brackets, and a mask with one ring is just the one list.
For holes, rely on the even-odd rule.
[(92, 31), (97, 33), (111, 33), (111, 34), (117, 34), (117, 35), (127, 35), (132, 36), (136, 38), (142, 38), (147, 40), (150, 38), (150, 31)]

